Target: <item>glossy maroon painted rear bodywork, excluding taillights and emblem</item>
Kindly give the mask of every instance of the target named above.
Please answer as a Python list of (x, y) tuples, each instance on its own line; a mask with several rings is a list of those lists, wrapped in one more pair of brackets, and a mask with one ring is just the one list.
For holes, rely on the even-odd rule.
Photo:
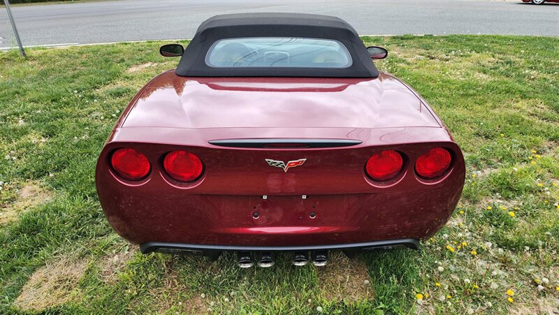
[[(237, 138), (362, 143), (317, 149), (208, 144)], [(110, 155), (120, 147), (150, 159), (145, 180), (122, 180), (111, 170)], [(453, 161), (442, 177), (423, 180), (414, 162), (433, 147), (448, 149)], [(175, 182), (164, 172), (163, 156), (178, 149), (203, 161), (196, 182)], [(402, 173), (373, 182), (365, 163), (386, 149), (402, 154)], [(284, 173), (265, 159), (307, 161)], [(184, 78), (167, 71), (133, 98), (96, 168), (103, 210), (127, 240), (247, 246), (425, 239), (449, 219), (464, 177), (449, 131), (415, 91), (386, 73), (375, 79)]]

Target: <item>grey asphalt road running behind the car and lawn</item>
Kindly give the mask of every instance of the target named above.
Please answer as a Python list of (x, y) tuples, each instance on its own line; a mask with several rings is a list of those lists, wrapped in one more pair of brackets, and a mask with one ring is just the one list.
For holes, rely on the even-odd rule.
[[(297, 12), (336, 15), (359, 34), (559, 36), (559, 4), (520, 0), (120, 0), (12, 7), (24, 45), (191, 38), (212, 15)], [(0, 47), (15, 45), (0, 7)]]

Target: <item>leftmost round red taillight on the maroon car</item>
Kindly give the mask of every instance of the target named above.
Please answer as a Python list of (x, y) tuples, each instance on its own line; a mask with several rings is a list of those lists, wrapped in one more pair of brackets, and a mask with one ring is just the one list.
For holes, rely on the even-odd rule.
[(110, 158), (112, 169), (125, 180), (143, 180), (150, 173), (150, 161), (135, 149), (117, 149)]

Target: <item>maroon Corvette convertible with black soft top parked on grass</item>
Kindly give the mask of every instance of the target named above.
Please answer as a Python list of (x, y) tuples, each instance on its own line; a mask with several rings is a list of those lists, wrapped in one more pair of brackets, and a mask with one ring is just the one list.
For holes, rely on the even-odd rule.
[(96, 167), (108, 221), (143, 253), (324, 265), (416, 249), (456, 207), (460, 147), (347, 22), (219, 15), (160, 52), (177, 68), (140, 89)]

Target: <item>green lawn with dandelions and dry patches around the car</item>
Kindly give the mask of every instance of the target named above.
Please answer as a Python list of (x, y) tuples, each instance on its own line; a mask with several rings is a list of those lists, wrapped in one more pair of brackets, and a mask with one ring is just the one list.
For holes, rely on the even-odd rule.
[(177, 64), (161, 42), (0, 53), (0, 313), (534, 314), (559, 309), (559, 38), (365, 37), (437, 111), (467, 178), (419, 251), (242, 270), (142, 255), (108, 225), (97, 154), (126, 103)]

